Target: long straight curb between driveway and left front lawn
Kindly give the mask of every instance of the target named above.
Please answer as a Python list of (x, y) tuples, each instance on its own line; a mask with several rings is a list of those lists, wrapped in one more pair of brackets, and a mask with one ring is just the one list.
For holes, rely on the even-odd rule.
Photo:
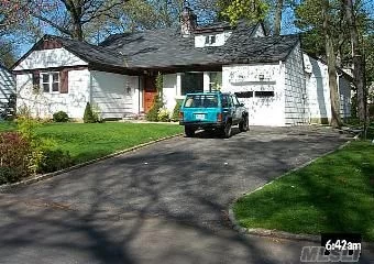
[(52, 178), (54, 176), (72, 172), (72, 170), (75, 170), (75, 169), (88, 166), (88, 165), (97, 163), (97, 162), (101, 162), (101, 161), (105, 161), (105, 160), (108, 160), (108, 158), (111, 158), (111, 157), (116, 157), (116, 156), (119, 156), (121, 154), (125, 154), (125, 153), (129, 153), (129, 152), (132, 152), (132, 151), (136, 151), (136, 150), (143, 148), (143, 147), (146, 147), (148, 145), (153, 145), (153, 144), (155, 144), (157, 142), (170, 140), (170, 139), (178, 138), (178, 136), (182, 136), (182, 135), (184, 135), (184, 133), (178, 133), (178, 134), (175, 134), (175, 135), (164, 136), (164, 138), (161, 138), (161, 139), (157, 139), (157, 140), (154, 140), (154, 141), (150, 141), (150, 142), (146, 142), (146, 143), (143, 143), (143, 144), (139, 144), (139, 145), (125, 148), (123, 151), (114, 152), (112, 154), (95, 158), (92, 161), (79, 163), (77, 165), (74, 165), (72, 167), (67, 167), (67, 168), (64, 168), (64, 169), (61, 169), (61, 170), (57, 170), (57, 172), (42, 174), (42, 175), (36, 175), (36, 176), (26, 178), (26, 179), (24, 179), (22, 182), (14, 183), (14, 184), (1, 185), (0, 186), (0, 193), (7, 191), (7, 190), (11, 190), (11, 189), (15, 189), (15, 188), (19, 188), (19, 187), (23, 187), (23, 186), (26, 186), (26, 185), (31, 185), (31, 184), (34, 184), (34, 183), (37, 183), (37, 182), (41, 182), (41, 180), (44, 180), (44, 179), (48, 179), (48, 178)]

